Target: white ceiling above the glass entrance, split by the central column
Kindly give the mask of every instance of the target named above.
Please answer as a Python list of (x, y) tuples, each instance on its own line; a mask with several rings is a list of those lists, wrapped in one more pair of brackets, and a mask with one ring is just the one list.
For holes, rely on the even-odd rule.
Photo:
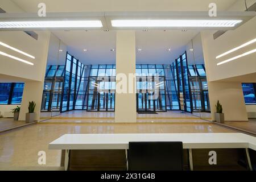
[[(83, 64), (115, 64), (115, 31), (52, 31)], [(170, 64), (198, 31), (136, 31), (137, 64)], [(171, 51), (167, 51), (171, 48)], [(83, 50), (87, 51), (84, 52)], [(142, 49), (142, 51), (138, 51)]]

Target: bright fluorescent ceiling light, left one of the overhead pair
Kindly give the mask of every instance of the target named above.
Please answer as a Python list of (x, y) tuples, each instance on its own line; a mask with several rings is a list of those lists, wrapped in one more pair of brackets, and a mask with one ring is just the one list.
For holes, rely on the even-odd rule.
[(0, 28), (82, 28), (102, 27), (101, 20), (55, 20), (0, 22)]

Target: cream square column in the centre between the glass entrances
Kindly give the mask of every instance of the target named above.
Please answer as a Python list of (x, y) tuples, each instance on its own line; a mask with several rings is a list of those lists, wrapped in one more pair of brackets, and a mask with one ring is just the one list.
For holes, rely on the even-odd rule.
[[(115, 122), (136, 122), (136, 93), (134, 91), (130, 93), (128, 86), (129, 73), (136, 72), (135, 31), (117, 31), (116, 46), (116, 74), (126, 75), (127, 82), (116, 77)], [(117, 92), (119, 81), (125, 83), (123, 86), (126, 86), (127, 93)]]

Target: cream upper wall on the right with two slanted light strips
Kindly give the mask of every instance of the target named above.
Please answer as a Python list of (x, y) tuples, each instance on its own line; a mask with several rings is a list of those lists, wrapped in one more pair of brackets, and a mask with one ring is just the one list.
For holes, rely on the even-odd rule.
[[(217, 63), (221, 61), (255, 49), (255, 42), (249, 46), (243, 47), (237, 51), (216, 59), (216, 56), (255, 39), (255, 30), (256, 17), (249, 20), (249, 22), (246, 22), (241, 27), (238, 27), (236, 30), (225, 32), (225, 34), (221, 35), (215, 40), (213, 40), (214, 31), (201, 32), (204, 59), (209, 81), (217, 81), (256, 72), (255, 52), (228, 63), (217, 65)], [(246, 80), (244, 80), (244, 82), (246, 82)]]

